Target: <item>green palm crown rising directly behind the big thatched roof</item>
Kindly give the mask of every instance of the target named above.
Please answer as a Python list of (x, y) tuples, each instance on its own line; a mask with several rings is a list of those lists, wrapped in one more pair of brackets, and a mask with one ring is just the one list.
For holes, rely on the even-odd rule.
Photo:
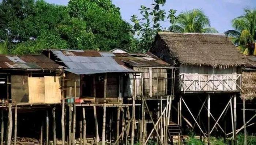
[(192, 9), (181, 12), (173, 21), (171, 21), (169, 30), (177, 33), (217, 33), (210, 26), (210, 20), (204, 14), (202, 9)]

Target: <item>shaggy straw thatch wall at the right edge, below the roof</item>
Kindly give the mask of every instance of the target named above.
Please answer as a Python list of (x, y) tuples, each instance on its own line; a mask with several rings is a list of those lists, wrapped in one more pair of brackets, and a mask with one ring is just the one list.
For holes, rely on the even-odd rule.
[(242, 98), (256, 98), (256, 71), (242, 72)]

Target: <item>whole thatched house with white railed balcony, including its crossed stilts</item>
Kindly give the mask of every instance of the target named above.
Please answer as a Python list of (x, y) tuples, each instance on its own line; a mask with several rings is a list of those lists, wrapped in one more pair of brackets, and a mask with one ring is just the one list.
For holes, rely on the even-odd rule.
[[(200, 132), (208, 139), (212, 132), (233, 134), (235, 139), (236, 98), (241, 94), (242, 66), (246, 58), (233, 43), (221, 34), (163, 32), (155, 37), (150, 52), (179, 68), (176, 96), (180, 97), (173, 102), (178, 108), (175, 122), (181, 127), (190, 126), (193, 132)], [(229, 106), (232, 111), (225, 114)], [(208, 118), (199, 119), (199, 116)], [(224, 117), (226, 119), (220, 121)], [(232, 127), (226, 128), (229, 121)]]

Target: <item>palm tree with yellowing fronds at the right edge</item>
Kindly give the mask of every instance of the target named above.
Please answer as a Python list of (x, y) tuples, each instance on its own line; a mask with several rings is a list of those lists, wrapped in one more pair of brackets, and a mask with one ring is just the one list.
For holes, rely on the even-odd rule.
[(233, 19), (232, 26), (235, 30), (226, 31), (226, 36), (244, 55), (252, 55), (256, 40), (256, 9), (244, 9), (244, 15)]

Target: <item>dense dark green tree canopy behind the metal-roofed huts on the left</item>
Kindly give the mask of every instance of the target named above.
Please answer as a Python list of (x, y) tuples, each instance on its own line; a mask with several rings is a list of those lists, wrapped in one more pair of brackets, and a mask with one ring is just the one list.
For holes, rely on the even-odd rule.
[(68, 6), (43, 0), (3, 0), (0, 3), (0, 42), (8, 39), (14, 54), (42, 49), (126, 48), (130, 26), (111, 0), (71, 0)]

